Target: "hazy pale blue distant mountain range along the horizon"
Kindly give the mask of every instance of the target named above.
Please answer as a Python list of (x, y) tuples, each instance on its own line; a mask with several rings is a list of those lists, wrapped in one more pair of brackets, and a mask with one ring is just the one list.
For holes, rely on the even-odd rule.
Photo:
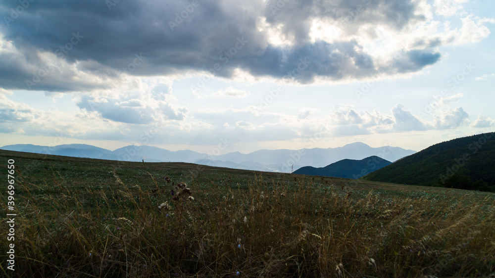
[[(342, 159), (359, 160), (373, 155), (389, 161), (396, 161), (415, 153), (413, 150), (406, 150), (400, 147), (384, 146), (374, 148), (361, 142), (336, 148), (265, 149), (247, 154), (230, 152), (218, 156), (211, 156), (192, 150), (170, 151), (147, 145), (129, 145), (113, 151), (87, 144), (65, 144), (52, 147), (15, 144), (0, 147), (0, 149), (117, 161), (188, 162), (209, 166), (222, 165), (221, 167), (233, 169), (284, 173), (290, 173), (291, 170), (295, 171), (301, 168), (301, 165), (319, 167)], [(292, 169), (293, 165), (294, 168)]]

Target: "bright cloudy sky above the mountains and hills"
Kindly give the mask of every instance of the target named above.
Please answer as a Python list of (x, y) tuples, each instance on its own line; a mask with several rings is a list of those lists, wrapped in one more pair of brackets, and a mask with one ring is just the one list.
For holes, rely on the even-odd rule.
[(495, 131), (492, 0), (0, 2), (0, 145), (420, 151)]

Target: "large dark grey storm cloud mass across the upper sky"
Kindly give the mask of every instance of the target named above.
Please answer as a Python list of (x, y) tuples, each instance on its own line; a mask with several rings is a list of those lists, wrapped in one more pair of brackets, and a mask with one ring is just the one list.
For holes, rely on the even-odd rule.
[[(8, 21), (5, 18), (11, 18), (11, 9), (19, 3), (3, 1), (0, 32), (19, 53), (12, 58), (0, 52), (1, 86), (26, 89), (33, 67), (36, 72), (43, 66), (37, 51), (55, 53), (69, 63), (84, 61), (82, 71), (111, 78), (119, 72), (168, 75), (209, 69), (217, 76), (230, 77), (236, 68), (253, 76), (289, 77), (300, 83), (310, 83), (316, 77), (361, 78), (379, 70), (373, 58), (355, 41), (310, 42), (313, 19), (335, 20), (347, 34), (355, 33), (363, 24), (386, 24), (401, 30), (408, 23), (424, 19), (415, 15), (414, 2), (403, 0), (115, 2), (33, 1)], [(267, 31), (260, 31), (258, 26), (263, 17), (272, 27), (282, 26), (284, 34), (294, 39), (293, 45), (268, 43)], [(70, 50), (64, 48), (73, 41), (73, 34), (81, 39)], [(387, 72), (416, 71), (435, 63), (440, 54), (428, 49), (409, 52), (407, 60)], [(130, 70), (129, 65), (138, 56), (144, 61)], [(84, 80), (76, 82), (66, 75), (47, 77), (29, 89), (84, 91), (103, 87)]]

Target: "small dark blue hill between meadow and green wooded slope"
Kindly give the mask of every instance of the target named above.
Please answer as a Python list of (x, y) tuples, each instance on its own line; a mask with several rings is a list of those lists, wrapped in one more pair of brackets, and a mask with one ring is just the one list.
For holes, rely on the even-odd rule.
[(298, 169), (294, 174), (358, 179), (390, 164), (392, 162), (388, 160), (370, 156), (361, 160), (343, 159), (322, 168), (306, 166)]

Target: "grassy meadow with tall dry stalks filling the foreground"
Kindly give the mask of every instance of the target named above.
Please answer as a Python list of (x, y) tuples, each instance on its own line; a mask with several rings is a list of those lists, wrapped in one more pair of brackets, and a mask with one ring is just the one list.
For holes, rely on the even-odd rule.
[[(0, 276), (495, 277), (494, 193), (187, 163), (0, 157), (5, 181), (15, 160), (17, 214), (16, 270), (2, 251)], [(5, 193), (1, 203), (6, 219)], [(0, 241), (7, 250), (11, 242)]]

